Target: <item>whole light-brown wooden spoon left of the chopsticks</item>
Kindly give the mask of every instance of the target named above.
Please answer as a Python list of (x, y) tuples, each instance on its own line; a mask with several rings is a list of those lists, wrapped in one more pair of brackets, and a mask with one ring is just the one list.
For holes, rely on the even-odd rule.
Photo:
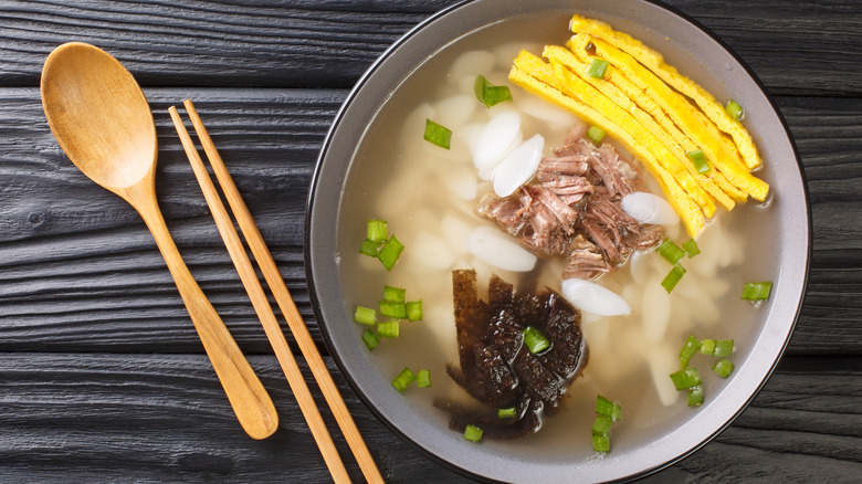
[(195, 282), (156, 200), (156, 125), (135, 78), (105, 51), (72, 42), (42, 70), (42, 107), (66, 156), (144, 218), (242, 428), (254, 439), (278, 427), (269, 393)]

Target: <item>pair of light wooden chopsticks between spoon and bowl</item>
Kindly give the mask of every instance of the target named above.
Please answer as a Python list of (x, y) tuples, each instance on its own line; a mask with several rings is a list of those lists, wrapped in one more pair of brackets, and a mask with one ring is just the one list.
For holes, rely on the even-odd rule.
[[(377, 469), (377, 464), (371, 457), (371, 454), (368, 451), (368, 448), (366, 446), (365, 441), (362, 440), (362, 436), (356, 427), (356, 422), (354, 422), (353, 417), (350, 417), (350, 412), (347, 410), (347, 406), (338, 392), (338, 389), (335, 386), (335, 381), (333, 380), (332, 375), (329, 375), (329, 371), (326, 368), (319, 351), (317, 350), (317, 346), (314, 344), (314, 339), (312, 338), (308, 328), (305, 326), (305, 322), (303, 320), (302, 315), (299, 315), (299, 312), (296, 309), (296, 305), (294, 304), (290, 291), (287, 291), (287, 286), (285, 285), (284, 280), (282, 278), (281, 273), (275, 265), (275, 261), (273, 260), (270, 250), (266, 248), (266, 244), (263, 241), (263, 236), (261, 235), (257, 225), (254, 223), (254, 220), (252, 219), (245, 202), (242, 200), (242, 197), (240, 196), (233, 179), (228, 172), (221, 156), (216, 149), (216, 145), (212, 143), (209, 133), (207, 133), (207, 128), (203, 126), (203, 123), (198, 116), (198, 112), (195, 109), (195, 105), (191, 103), (191, 101), (187, 99), (183, 105), (186, 106), (186, 111), (191, 118), (195, 130), (198, 134), (198, 138), (200, 139), (201, 145), (207, 152), (207, 157), (209, 158), (212, 170), (219, 180), (219, 185), (221, 186), (221, 189), (228, 199), (228, 203), (231, 207), (234, 217), (236, 218), (236, 222), (239, 223), (240, 229), (245, 236), (245, 241), (249, 243), (252, 254), (261, 267), (261, 272), (264, 275), (266, 284), (270, 286), (270, 290), (275, 296), (275, 301), (287, 322), (287, 326), (291, 328), (294, 339), (296, 339), (296, 343), (299, 346), (299, 349), (305, 357), (306, 362), (308, 364), (308, 367), (311, 368), (312, 373), (317, 381), (317, 385), (320, 387), (320, 390), (324, 393), (324, 398), (326, 399), (333, 415), (338, 422), (338, 427), (341, 429), (341, 432), (344, 433), (345, 439), (347, 440), (347, 443), (350, 446), (350, 450), (353, 451), (360, 470), (362, 471), (362, 475), (369, 483), (382, 483), (383, 478)], [(222, 234), (225, 244), (228, 245), (228, 251), (231, 254), (231, 259), (234, 261), (234, 265), (236, 266), (238, 272), (240, 273), (243, 285), (252, 298), (252, 304), (254, 305), (255, 312), (257, 313), (257, 316), (263, 324), (264, 332), (270, 339), (270, 344), (275, 351), (276, 358), (282, 365), (282, 369), (287, 376), (291, 388), (302, 388), (304, 389), (305, 393), (307, 393), (308, 401), (305, 403), (305, 406), (311, 404), (313, 410), (308, 410), (306, 412), (303, 400), (299, 399), (299, 394), (297, 393), (296, 389), (294, 389), (294, 393), (297, 394), (297, 400), (299, 401), (299, 407), (303, 410), (306, 420), (308, 420), (308, 424), (312, 428), (315, 440), (317, 440), (318, 446), (320, 446), (320, 451), (324, 454), (327, 466), (329, 466), (329, 471), (336, 482), (341, 482), (339, 480), (341, 476), (345, 481), (349, 481), (346, 471), (344, 470), (344, 464), (341, 463), (337, 451), (332, 444), (332, 439), (329, 438), (326, 428), (323, 425), (319, 411), (316, 407), (314, 407), (314, 401), (311, 399), (305, 380), (298, 372), (298, 367), (296, 367), (293, 353), (287, 346), (284, 334), (282, 333), (281, 327), (278, 326), (278, 323), (272, 312), (272, 307), (270, 306), (269, 301), (263, 293), (261, 283), (257, 280), (254, 269), (251, 265), (251, 261), (249, 260), (242, 242), (239, 239), (239, 234), (236, 233), (236, 230), (230, 220), (230, 215), (228, 214), (224, 204), (221, 202), (221, 199), (216, 191), (216, 187), (213, 186), (212, 180), (209, 178), (209, 175), (203, 167), (203, 162), (201, 161), (200, 156), (198, 155), (198, 151), (195, 148), (195, 145), (191, 141), (185, 125), (182, 124), (182, 120), (179, 118), (177, 109), (171, 106), (169, 111), (171, 118), (174, 119), (174, 124), (177, 126), (177, 131), (180, 134), (180, 139), (182, 140), (186, 152), (189, 156), (189, 160), (191, 161), (195, 175), (201, 185), (201, 189), (204, 192), (204, 197), (207, 198), (207, 202), (210, 206), (210, 210), (213, 212), (213, 218), (216, 218), (219, 231)], [(217, 215), (217, 213), (219, 214)], [(257, 301), (256, 304), (255, 301)], [(296, 376), (299, 378), (299, 381), (296, 382), (296, 385), (294, 385), (294, 381), (292, 381), (293, 370), (288, 371), (291, 367), (296, 368), (294, 378), (296, 378)], [(317, 428), (317, 430), (315, 430), (315, 428)], [(319, 439), (318, 433), (315, 432), (322, 433)]]

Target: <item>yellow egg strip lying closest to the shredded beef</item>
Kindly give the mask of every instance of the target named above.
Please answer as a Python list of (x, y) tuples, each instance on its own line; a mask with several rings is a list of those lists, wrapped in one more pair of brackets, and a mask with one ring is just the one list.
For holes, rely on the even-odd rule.
[(603, 114), (579, 99), (567, 96), (560, 91), (561, 83), (557, 80), (554, 67), (542, 59), (522, 51), (515, 59), (515, 65), (509, 71), (509, 81), (524, 87), (539, 97), (570, 111), (602, 129), (621, 143), (629, 151), (638, 156), (650, 173), (659, 181), (667, 197), (667, 201), (683, 220), (685, 229), (692, 238), (696, 238), (704, 229), (704, 214), (683, 190), (676, 180), (655, 159), (655, 156), (638, 144), (631, 135), (611, 123)]

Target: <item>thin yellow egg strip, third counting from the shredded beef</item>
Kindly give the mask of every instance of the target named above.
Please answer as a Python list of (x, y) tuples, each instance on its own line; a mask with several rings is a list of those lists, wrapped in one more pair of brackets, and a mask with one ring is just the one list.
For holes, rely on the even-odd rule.
[[(601, 94), (607, 96), (610, 101), (616, 103), (617, 106), (634, 116), (634, 118), (638, 119), (638, 122), (646, 131), (651, 133), (662, 145), (664, 145), (664, 147), (675, 158), (676, 165), (684, 167), (685, 170), (688, 171), (688, 173), (696, 180), (700, 187), (706, 190), (709, 196), (712, 196), (727, 210), (732, 210), (734, 208), (735, 202), (730, 199), (730, 197), (728, 197), (717, 185), (715, 185), (715, 182), (709, 177), (697, 172), (694, 164), (692, 164), (692, 161), (685, 155), (686, 151), (683, 150), (682, 146), (680, 146), (680, 144), (676, 143), (676, 140), (662, 126), (659, 125), (655, 118), (641, 109), (634, 101), (632, 101), (616, 85), (609, 82), (607, 80), (607, 75), (605, 80), (590, 77), (586, 74), (587, 70), (589, 69), (588, 64), (586, 62), (581, 62), (569, 50), (558, 45), (545, 46), (545, 52), (542, 55), (551, 61), (560, 62), (561, 64), (566, 65), (566, 67), (568, 67), (572, 73), (577, 74), (581, 80), (586, 81)], [(656, 156), (659, 156), (661, 159), (662, 155), (656, 154)], [(671, 170), (672, 175), (676, 175), (672, 168), (669, 167), (669, 169)], [(714, 172), (714, 170), (711, 171)], [(714, 210), (704, 212), (707, 218), (712, 217), (713, 213)]]

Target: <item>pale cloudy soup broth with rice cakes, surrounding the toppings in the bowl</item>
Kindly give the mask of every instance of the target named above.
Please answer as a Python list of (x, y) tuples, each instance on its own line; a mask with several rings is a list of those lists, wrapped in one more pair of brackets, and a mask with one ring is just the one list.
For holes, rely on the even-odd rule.
[[(413, 386), (402, 397), (404, 404), (443, 428), (449, 414), (432, 406), (434, 398), (476, 404), (445, 372), (448, 364), (459, 365), (452, 270), (475, 269), (480, 291), (492, 273), (516, 285), (523, 277), (491, 267), (466, 249), (465, 240), (473, 229), (495, 227), (475, 213), (479, 199), (492, 188), (476, 176), (471, 143), (491, 117), (506, 111), (521, 115), (525, 139), (534, 134), (545, 137), (546, 152), (581, 123), (507, 81), (512, 60), (521, 49), (542, 52), (545, 43), (565, 41), (566, 24), (565, 17), (557, 22), (547, 17), (540, 21), (518, 19), (445, 46), (417, 67), (380, 107), (350, 165), (350, 182), (345, 186), (337, 215), (337, 260), (347, 288), (347, 313), (355, 305), (376, 307), (383, 285), (404, 287), (408, 301), (422, 299), (423, 319), (402, 322), (397, 339), (381, 338), (370, 354), (369, 371), (379, 371), (381, 379), (391, 381), (404, 367), (414, 372), (430, 370), (430, 388)], [(502, 44), (501, 32), (505, 32)], [(493, 84), (509, 86), (513, 102), (492, 108), (479, 103), (473, 83), (480, 74)], [(450, 150), (423, 140), (427, 118), (453, 130)], [(650, 191), (661, 194), (645, 172), (644, 178)], [(743, 262), (750, 242), (742, 234), (765, 218), (761, 212), (751, 204), (738, 206), (733, 212), (719, 210), (697, 240), (701, 254), (683, 261), (687, 273), (670, 295), (661, 281), (671, 265), (654, 251), (637, 252), (616, 272), (602, 276), (598, 282), (621, 295), (632, 312), (614, 317), (582, 314), (589, 362), (569, 387), (564, 410), (546, 420), (535, 434), (505, 442), (484, 441), (483, 445), (512, 459), (519, 459), (525, 449), (537, 444), (543, 448), (539, 459), (589, 459), (595, 455), (590, 428), (597, 394), (623, 409), (622, 422), (612, 430), (614, 449), (643, 445), (686, 419), (687, 412), (696, 411), (686, 408), (685, 392), (676, 391), (667, 375), (680, 369), (679, 351), (688, 335), (734, 338), (736, 353), (746, 350), (746, 336), (751, 335), (746, 324), (753, 316), (750, 304), (739, 301), (739, 291), (749, 277)], [(358, 253), (369, 219), (387, 220), (389, 233), (406, 246), (391, 272), (376, 259)], [(677, 243), (688, 239), (682, 224), (669, 227), (666, 235)], [(565, 262), (561, 257), (540, 261), (536, 265), (540, 286), (559, 291)], [(357, 345), (362, 345), (360, 335), (366, 328), (356, 324)], [(705, 365), (701, 376), (708, 400), (724, 382)], [(535, 460), (536, 454), (532, 455)]]

